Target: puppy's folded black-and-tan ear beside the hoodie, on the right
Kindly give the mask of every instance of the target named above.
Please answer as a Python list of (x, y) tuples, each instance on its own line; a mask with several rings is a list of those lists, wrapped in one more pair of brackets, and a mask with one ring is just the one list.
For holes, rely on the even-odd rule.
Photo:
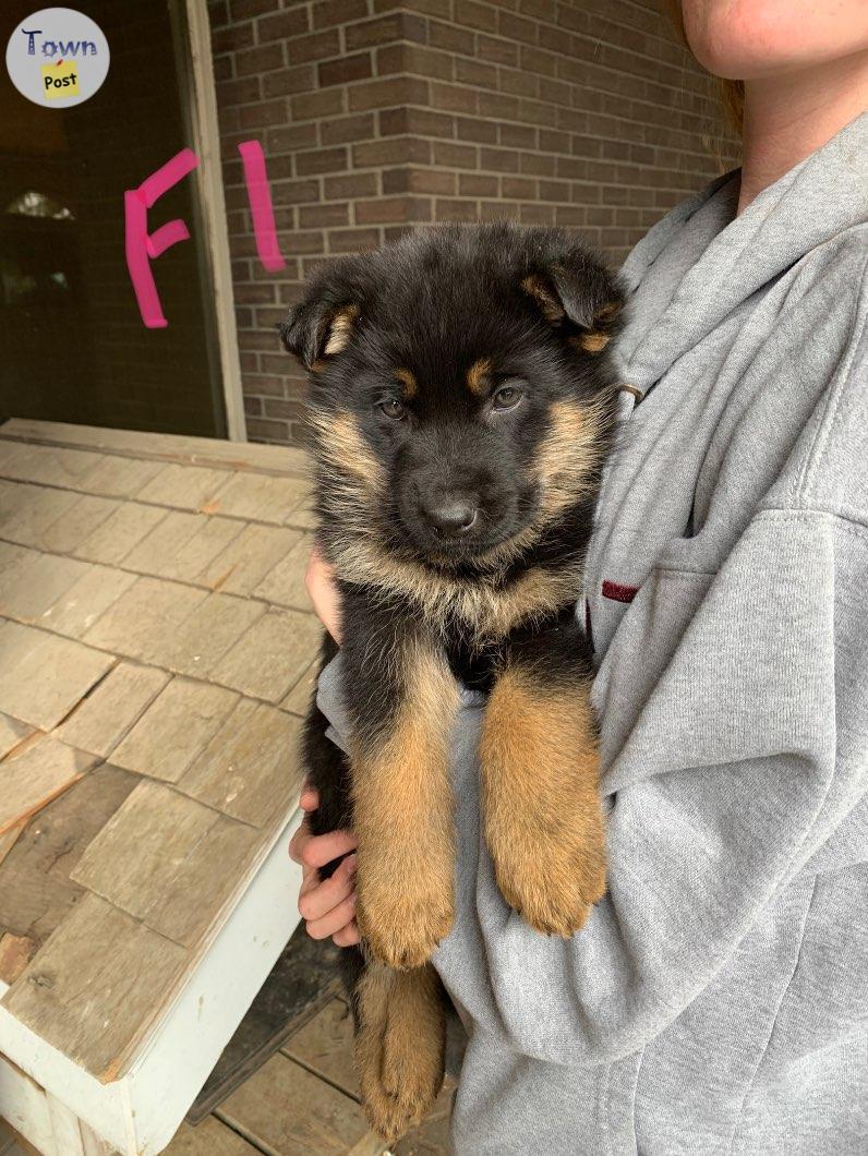
[(521, 289), (546, 320), (586, 353), (600, 353), (618, 328), (624, 305), (617, 282), (581, 249), (531, 273)]

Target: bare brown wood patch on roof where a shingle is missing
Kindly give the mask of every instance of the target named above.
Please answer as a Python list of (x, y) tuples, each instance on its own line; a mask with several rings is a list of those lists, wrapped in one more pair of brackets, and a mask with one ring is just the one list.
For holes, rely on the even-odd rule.
[(98, 766), (44, 807), (0, 864), (0, 925), (42, 943), (81, 898), (69, 879), (136, 777)]

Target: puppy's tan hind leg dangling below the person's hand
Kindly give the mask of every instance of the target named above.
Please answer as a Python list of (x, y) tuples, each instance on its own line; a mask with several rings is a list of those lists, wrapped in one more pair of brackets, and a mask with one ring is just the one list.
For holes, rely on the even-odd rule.
[(443, 1087), (446, 1013), (430, 964), (394, 971), (362, 962), (353, 992), (356, 1069), (371, 1126), (393, 1142), (430, 1111)]

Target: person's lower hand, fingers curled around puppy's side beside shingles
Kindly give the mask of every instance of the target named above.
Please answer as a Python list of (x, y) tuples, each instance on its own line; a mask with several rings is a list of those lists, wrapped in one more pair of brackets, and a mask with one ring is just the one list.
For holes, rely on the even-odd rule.
[[(319, 795), (305, 787), (301, 799), (305, 818), (289, 844), (289, 855), (302, 866), (302, 890), (298, 910), (312, 939), (332, 936), (337, 947), (351, 947), (359, 942), (356, 926), (356, 857), (348, 854), (356, 850), (353, 831), (329, 831), (328, 835), (311, 835), (307, 815), (319, 807)], [(347, 858), (334, 875), (320, 879), (319, 868), (340, 855)]]

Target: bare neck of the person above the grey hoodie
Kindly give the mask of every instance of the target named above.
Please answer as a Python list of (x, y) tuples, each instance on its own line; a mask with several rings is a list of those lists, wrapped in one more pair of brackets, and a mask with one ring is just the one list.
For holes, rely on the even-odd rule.
[(744, 82), (739, 213), (868, 108), (868, 52)]

